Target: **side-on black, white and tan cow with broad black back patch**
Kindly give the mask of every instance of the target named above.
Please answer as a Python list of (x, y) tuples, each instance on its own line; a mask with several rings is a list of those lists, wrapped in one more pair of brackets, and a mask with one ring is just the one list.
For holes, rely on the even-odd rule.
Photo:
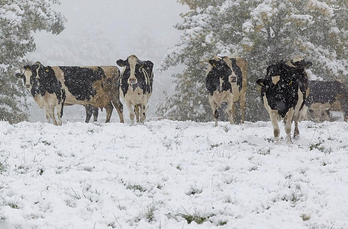
[[(119, 99), (119, 70), (116, 66), (43, 66), (40, 62), (24, 66), (24, 84), (37, 104), (49, 108), (54, 121), (57, 106), (58, 125), (61, 125), (64, 103), (90, 104), (105, 107), (106, 120), (110, 121), (115, 106), (123, 123), (123, 105)], [(48, 118), (47, 118), (48, 119)], [(48, 119), (49, 121), (49, 119)]]

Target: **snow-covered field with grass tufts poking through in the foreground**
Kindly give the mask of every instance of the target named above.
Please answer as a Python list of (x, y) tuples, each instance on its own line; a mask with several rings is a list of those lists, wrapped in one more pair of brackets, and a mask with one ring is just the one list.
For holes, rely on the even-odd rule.
[(299, 130), (0, 122), (0, 229), (347, 229), (348, 123)]

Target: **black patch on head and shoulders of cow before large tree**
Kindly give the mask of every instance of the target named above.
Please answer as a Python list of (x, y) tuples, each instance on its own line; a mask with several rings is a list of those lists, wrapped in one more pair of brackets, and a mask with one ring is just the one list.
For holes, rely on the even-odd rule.
[[(205, 88), (210, 95), (213, 95), (214, 91), (230, 91), (232, 93), (231, 83), (228, 81), (228, 76), (232, 74), (232, 70), (224, 60), (210, 60), (212, 69), (209, 71), (205, 78)], [(220, 78), (222, 79), (222, 86), (220, 88)]]

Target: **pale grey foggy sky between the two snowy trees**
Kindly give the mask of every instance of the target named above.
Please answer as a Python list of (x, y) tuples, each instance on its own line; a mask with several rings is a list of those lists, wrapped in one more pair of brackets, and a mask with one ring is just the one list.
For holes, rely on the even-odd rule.
[[(155, 65), (154, 86), (147, 116), (156, 116), (156, 105), (165, 98), (163, 91), (174, 91), (171, 75), (180, 71), (172, 69), (160, 73), (157, 68), (167, 49), (179, 41), (180, 31), (174, 28), (174, 24), (181, 21), (179, 14), (187, 12), (188, 7), (176, 0), (61, 2), (60, 5), (53, 5), (53, 8), (67, 18), (65, 30), (59, 35), (35, 33), (36, 51), (29, 53), (26, 58), (33, 63), (39, 61), (45, 66), (116, 65), (118, 59), (126, 59), (131, 54), (135, 54), (140, 60), (151, 60)], [(30, 121), (45, 122), (44, 110), (33, 99), (29, 100), (33, 103), (29, 110)], [(125, 106), (124, 115), (125, 118), (129, 117)], [(103, 122), (104, 116), (105, 110), (99, 111), (98, 121)], [(63, 123), (67, 119), (83, 121), (84, 107), (66, 106)], [(115, 110), (111, 121), (118, 121)]]

